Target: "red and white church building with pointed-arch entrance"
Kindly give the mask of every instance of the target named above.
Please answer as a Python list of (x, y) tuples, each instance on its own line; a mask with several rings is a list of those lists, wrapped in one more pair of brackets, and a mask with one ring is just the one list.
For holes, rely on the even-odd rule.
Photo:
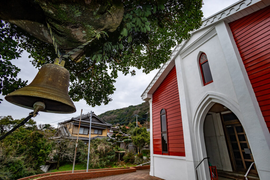
[[(150, 175), (270, 177), (270, 1), (241, 0), (203, 19), (141, 95), (150, 103)], [(255, 164), (254, 164), (254, 163)], [(166, 166), (164, 166), (166, 165)], [(207, 160), (198, 179), (210, 179)]]

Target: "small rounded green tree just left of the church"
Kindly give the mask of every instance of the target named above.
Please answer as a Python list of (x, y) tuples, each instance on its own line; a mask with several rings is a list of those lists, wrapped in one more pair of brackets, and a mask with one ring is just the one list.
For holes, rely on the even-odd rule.
[(150, 132), (147, 132), (146, 128), (134, 128), (130, 133), (133, 145), (135, 145), (141, 153), (141, 149), (150, 143)]

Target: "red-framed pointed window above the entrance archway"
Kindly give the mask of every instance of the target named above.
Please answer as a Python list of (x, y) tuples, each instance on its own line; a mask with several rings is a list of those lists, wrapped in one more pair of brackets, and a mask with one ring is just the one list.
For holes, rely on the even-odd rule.
[(213, 82), (212, 74), (211, 74), (210, 67), (208, 64), (208, 59), (205, 53), (202, 53), (200, 55), (199, 64), (200, 64), (200, 69), (201, 69), (201, 75), (203, 78), (203, 85), (205, 86)]

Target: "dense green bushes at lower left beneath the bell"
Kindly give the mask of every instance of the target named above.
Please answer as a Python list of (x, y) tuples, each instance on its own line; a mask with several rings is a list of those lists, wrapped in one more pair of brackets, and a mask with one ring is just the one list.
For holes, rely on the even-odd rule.
[[(20, 121), (13, 120), (11, 116), (1, 116), (2, 132)], [(45, 164), (52, 150), (51, 141), (48, 141), (51, 135), (50, 131), (38, 129), (36, 122), (31, 121), (3, 139), (0, 142), (0, 179), (19, 179), (39, 174), (39, 166)]]

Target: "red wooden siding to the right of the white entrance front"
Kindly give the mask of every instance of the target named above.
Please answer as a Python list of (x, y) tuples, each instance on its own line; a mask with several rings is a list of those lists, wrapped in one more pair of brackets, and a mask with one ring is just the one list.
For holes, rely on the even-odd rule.
[(270, 6), (229, 25), (270, 132)]

